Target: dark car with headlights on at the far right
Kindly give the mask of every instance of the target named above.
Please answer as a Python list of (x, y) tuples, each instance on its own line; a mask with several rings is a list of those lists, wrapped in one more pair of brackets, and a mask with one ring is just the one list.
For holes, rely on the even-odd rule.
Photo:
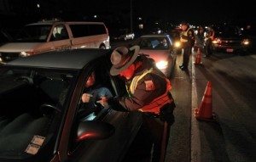
[(236, 25), (217, 25), (213, 27), (211, 43), (206, 43), (207, 54), (213, 52), (245, 54), (250, 47), (249, 39)]

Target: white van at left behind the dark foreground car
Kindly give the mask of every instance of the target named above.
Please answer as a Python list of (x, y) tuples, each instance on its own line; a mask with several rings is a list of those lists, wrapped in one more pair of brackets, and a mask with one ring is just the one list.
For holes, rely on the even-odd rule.
[(15, 42), (0, 47), (0, 63), (18, 57), (67, 48), (110, 48), (102, 22), (42, 21), (24, 26)]

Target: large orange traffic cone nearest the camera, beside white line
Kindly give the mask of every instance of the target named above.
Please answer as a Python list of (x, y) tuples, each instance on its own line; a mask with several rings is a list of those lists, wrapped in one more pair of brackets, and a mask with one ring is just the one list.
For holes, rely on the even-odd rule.
[(214, 120), (215, 115), (212, 113), (212, 82), (207, 82), (207, 88), (201, 99), (199, 109), (195, 109), (196, 120)]

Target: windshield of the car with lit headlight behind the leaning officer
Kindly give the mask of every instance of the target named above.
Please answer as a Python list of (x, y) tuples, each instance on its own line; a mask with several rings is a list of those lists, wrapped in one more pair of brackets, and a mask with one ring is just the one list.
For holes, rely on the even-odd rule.
[(141, 37), (136, 44), (142, 49), (166, 50), (170, 47), (166, 37)]

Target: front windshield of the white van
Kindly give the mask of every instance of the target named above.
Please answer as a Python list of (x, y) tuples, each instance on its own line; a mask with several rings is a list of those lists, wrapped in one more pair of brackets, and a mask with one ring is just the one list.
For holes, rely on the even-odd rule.
[(15, 42), (46, 42), (52, 25), (26, 25), (15, 36)]

